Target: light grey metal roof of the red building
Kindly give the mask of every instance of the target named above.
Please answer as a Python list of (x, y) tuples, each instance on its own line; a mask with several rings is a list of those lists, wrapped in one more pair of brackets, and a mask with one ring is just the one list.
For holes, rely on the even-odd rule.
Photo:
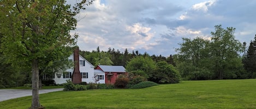
[(100, 67), (103, 72), (126, 72), (126, 69), (123, 66), (98, 65), (98, 67)]

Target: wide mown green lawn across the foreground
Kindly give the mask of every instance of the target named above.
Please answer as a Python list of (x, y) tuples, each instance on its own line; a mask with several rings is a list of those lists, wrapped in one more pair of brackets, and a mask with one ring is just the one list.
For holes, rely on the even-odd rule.
[[(143, 89), (96, 89), (40, 94), (46, 109), (62, 108), (256, 108), (256, 79), (182, 81)], [(0, 102), (29, 108), (31, 97)]]

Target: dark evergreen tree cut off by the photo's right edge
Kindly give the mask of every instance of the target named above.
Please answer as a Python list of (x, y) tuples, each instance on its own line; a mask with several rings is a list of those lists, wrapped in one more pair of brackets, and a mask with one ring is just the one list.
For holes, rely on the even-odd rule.
[(249, 45), (245, 59), (243, 59), (243, 64), (249, 73), (249, 78), (256, 78), (256, 35), (254, 41), (251, 41)]

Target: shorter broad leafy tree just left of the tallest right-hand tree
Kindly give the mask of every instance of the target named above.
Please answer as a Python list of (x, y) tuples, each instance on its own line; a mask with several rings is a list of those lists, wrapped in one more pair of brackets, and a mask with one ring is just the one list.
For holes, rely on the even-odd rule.
[(212, 79), (209, 67), (209, 41), (201, 37), (191, 40), (182, 38), (183, 43), (176, 49), (176, 66), (185, 80)]

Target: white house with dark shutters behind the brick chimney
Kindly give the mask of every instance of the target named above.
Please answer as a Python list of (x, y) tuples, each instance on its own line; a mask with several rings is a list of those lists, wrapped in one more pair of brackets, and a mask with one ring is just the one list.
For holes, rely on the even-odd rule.
[[(74, 62), (74, 54), (70, 55), (68, 60)], [(79, 55), (79, 70), (81, 73), (82, 82), (87, 82), (87, 84), (105, 84), (105, 73), (100, 70), (94, 70), (94, 66), (81, 55)], [(66, 72), (63, 73), (55, 73), (53, 78), (55, 84), (64, 84), (67, 82), (67, 80), (72, 80), (73, 71), (74, 67), (67, 69)]]

